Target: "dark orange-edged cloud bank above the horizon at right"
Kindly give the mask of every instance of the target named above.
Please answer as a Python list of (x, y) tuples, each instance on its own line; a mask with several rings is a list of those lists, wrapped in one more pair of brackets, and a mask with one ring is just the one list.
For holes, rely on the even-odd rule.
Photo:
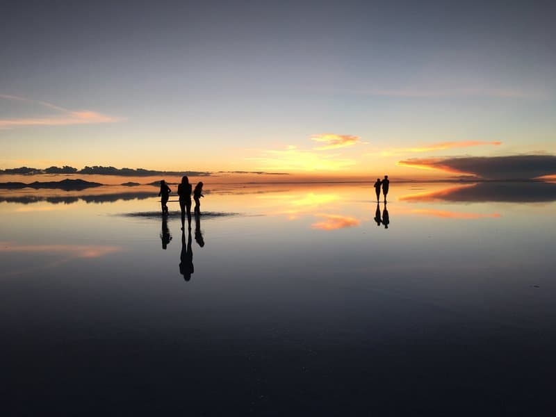
[(556, 174), (555, 155), (411, 158), (400, 161), (400, 165), (466, 172), (484, 179), (532, 179)]

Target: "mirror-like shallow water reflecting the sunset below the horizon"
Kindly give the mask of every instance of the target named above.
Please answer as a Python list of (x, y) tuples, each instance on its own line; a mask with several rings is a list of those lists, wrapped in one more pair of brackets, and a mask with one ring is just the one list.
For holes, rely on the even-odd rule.
[(555, 187), (3, 191), (0, 413), (553, 415)]

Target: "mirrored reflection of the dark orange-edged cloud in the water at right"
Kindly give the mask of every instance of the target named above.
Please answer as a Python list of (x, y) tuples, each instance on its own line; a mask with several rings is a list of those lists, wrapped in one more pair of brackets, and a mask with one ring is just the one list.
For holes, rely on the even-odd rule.
[(513, 202), (556, 201), (556, 184), (540, 181), (484, 182), (400, 197), (404, 202)]

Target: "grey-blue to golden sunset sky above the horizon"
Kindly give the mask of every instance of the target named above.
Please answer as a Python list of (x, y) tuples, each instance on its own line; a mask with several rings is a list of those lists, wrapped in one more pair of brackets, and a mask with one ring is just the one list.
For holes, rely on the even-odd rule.
[(550, 1), (6, 2), (0, 168), (408, 178), (477, 174), (462, 157), (540, 155), (534, 174), (556, 174), (555, 12)]

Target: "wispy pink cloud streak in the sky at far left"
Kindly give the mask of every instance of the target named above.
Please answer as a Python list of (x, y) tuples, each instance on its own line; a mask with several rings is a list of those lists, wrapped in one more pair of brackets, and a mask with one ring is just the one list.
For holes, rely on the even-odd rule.
[(103, 115), (101, 113), (97, 113), (96, 111), (69, 110), (67, 108), (51, 104), (47, 101), (31, 100), (13, 95), (0, 95), (0, 98), (23, 101), (29, 104), (38, 104), (39, 106), (42, 106), (44, 108), (54, 110), (57, 113), (44, 117), (17, 117), (13, 119), (0, 119), (0, 129), (10, 129), (22, 126), (64, 126), (70, 124), (114, 123), (123, 120), (121, 117)]

